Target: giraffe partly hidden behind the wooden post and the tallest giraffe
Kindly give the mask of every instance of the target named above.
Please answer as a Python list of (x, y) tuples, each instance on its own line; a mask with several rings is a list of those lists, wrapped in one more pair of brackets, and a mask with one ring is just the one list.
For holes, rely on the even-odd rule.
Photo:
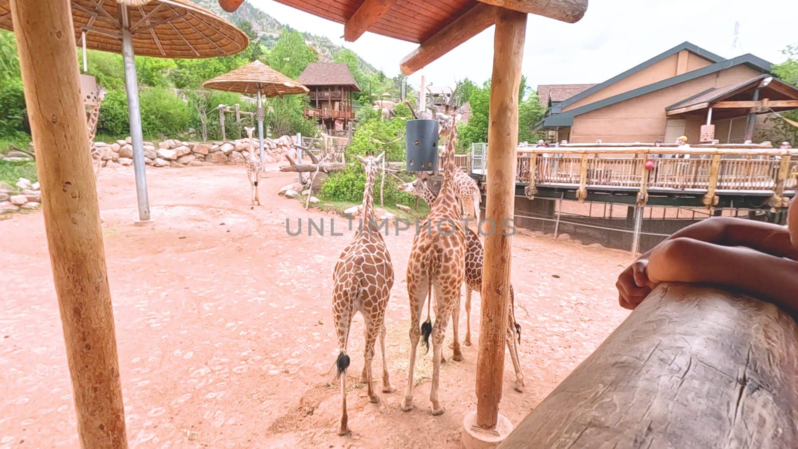
[[(428, 205), (433, 205), (436, 195), (426, 185), (425, 181), (417, 178), (415, 181), (410, 181), (399, 186), (401, 192), (410, 193), (417, 197), (421, 197)], [(484, 248), (480, 242), (479, 236), (471, 232), (470, 229), (465, 229), (466, 235), (466, 252), (465, 252), (465, 318), (466, 318), (466, 331), (465, 340), (463, 344), (471, 346), (471, 293), (481, 292), (482, 290), (482, 267), (484, 264)], [(516, 339), (514, 333), (518, 336), (518, 343), (521, 342), (521, 326), (516, 321), (516, 302), (515, 292), (513, 292), (512, 284), (510, 285), (510, 310), (508, 312), (508, 328), (507, 328), (507, 347), (510, 350), (510, 357), (512, 358), (512, 367), (516, 370), (516, 384), (513, 388), (518, 392), (523, 392), (523, 372), (518, 358), (518, 347), (516, 346)], [(452, 342), (452, 346), (454, 343)]]

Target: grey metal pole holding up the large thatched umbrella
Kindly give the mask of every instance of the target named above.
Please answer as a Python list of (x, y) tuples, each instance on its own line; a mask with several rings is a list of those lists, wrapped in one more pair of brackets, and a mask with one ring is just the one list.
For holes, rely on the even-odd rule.
[(141, 133), (139, 111), (139, 83), (136, 79), (136, 61), (133, 58), (133, 38), (130, 33), (128, 7), (119, 5), (122, 18), (122, 62), (124, 64), (124, 90), (128, 94), (128, 116), (130, 118), (130, 140), (133, 147), (133, 173), (136, 177), (136, 200), (139, 205), (139, 221), (149, 221), (149, 199), (147, 196), (147, 173), (144, 171), (144, 137)]

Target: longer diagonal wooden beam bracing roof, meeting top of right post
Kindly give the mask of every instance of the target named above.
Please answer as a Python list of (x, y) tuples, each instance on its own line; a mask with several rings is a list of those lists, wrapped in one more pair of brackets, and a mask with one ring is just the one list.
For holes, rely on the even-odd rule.
[(484, 3), (474, 6), (405, 56), (399, 64), (401, 72), (405, 75), (413, 74), (476, 34), (480, 34), (482, 30), (496, 22), (497, 10), (495, 6)]

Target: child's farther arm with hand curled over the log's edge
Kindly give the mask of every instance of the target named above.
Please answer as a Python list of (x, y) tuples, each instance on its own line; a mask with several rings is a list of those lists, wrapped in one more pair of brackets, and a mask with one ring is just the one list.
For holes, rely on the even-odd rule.
[[(790, 243), (787, 228), (761, 221), (713, 217), (674, 232), (661, 244), (678, 238), (725, 246), (745, 246), (773, 256), (798, 258), (798, 250)], [(635, 308), (651, 292), (654, 284), (646, 276), (646, 268), (655, 249), (657, 247), (642, 254), (618, 276), (615, 286), (618, 288), (618, 302), (623, 308)]]

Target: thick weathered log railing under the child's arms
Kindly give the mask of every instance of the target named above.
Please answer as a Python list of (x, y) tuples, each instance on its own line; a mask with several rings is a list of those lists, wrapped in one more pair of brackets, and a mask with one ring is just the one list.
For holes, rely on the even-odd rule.
[(796, 353), (776, 306), (662, 284), (501, 447), (791, 447)]

